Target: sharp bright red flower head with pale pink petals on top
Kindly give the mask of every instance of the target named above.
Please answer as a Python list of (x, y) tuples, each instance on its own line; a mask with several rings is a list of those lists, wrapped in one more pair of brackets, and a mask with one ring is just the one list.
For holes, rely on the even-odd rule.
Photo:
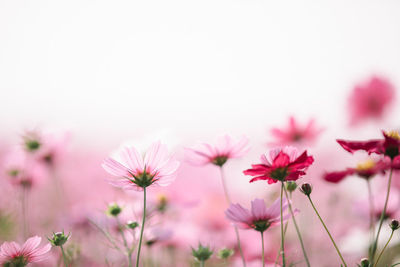
[(314, 162), (312, 156), (304, 151), (300, 156), (296, 148), (284, 147), (261, 155), (261, 164), (251, 165), (252, 169), (243, 171), (245, 175), (254, 176), (250, 183), (258, 180), (268, 180), (268, 184), (277, 181), (295, 181), (305, 175), (307, 168)]

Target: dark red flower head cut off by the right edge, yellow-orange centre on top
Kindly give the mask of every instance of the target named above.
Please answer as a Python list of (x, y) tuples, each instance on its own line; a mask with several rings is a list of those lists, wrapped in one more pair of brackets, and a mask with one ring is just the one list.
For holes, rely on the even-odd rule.
[(354, 153), (357, 150), (364, 150), (368, 152), (368, 154), (375, 153), (385, 155), (394, 160), (399, 155), (400, 134), (397, 131), (382, 131), (382, 134), (384, 137), (383, 139), (368, 141), (346, 141), (337, 139), (336, 141), (350, 153)]

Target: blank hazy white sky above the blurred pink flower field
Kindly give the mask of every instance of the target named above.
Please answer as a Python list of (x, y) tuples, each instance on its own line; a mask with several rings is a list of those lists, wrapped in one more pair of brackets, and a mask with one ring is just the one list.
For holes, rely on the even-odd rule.
[(289, 114), (344, 127), (373, 73), (400, 86), (398, 0), (0, 0), (4, 135), (263, 135)]

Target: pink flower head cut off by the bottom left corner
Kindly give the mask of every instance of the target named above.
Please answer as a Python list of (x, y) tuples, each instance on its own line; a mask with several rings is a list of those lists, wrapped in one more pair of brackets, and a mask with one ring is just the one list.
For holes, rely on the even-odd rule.
[(42, 239), (38, 236), (29, 238), (22, 247), (16, 242), (4, 242), (0, 247), (0, 264), (4, 266), (26, 266), (46, 258), (51, 245), (38, 248)]

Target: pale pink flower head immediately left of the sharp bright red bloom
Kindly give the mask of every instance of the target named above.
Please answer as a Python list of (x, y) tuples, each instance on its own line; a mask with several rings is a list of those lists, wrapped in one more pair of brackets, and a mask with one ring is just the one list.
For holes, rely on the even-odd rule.
[(245, 136), (239, 139), (234, 139), (230, 135), (220, 136), (214, 145), (202, 143), (193, 148), (186, 148), (186, 159), (193, 165), (212, 163), (222, 166), (228, 159), (245, 155), (250, 149), (248, 142)]

